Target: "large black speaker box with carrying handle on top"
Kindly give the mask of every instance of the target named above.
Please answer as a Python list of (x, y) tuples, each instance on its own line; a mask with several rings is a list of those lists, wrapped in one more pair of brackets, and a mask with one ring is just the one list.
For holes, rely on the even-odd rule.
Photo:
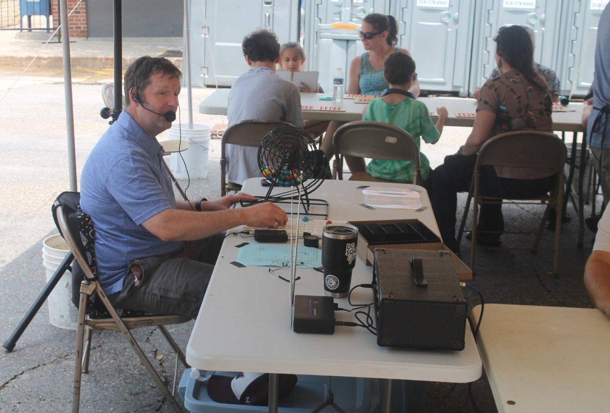
[(445, 250), (376, 249), (377, 344), (464, 350), (468, 305)]

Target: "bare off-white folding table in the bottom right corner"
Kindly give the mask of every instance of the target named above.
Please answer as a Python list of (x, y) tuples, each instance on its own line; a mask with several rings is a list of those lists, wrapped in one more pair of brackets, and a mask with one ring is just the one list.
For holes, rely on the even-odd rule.
[(478, 345), (498, 412), (610, 411), (610, 319), (601, 311), (487, 304)]

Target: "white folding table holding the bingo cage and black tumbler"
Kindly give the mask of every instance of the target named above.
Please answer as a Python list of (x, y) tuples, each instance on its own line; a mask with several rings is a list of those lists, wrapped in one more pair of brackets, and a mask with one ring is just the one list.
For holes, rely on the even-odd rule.
[[(375, 183), (382, 187), (421, 191), (423, 211), (370, 210), (361, 206), (362, 190), (370, 182), (326, 180), (312, 198), (329, 202), (328, 219), (379, 220), (417, 218), (434, 233), (439, 230), (425, 190), (415, 185)], [(262, 195), (267, 188), (260, 178), (246, 180), (244, 192)], [(239, 230), (240, 228), (236, 228)], [(188, 341), (187, 362), (197, 369), (268, 372), (269, 411), (277, 411), (274, 383), (277, 373), (370, 377), (467, 383), (481, 375), (481, 358), (470, 328), (463, 351), (418, 351), (379, 347), (364, 328), (337, 327), (332, 335), (299, 334), (290, 329), (289, 283), (269, 274), (268, 267), (238, 267), (238, 247), (253, 238), (229, 235), (223, 244), (206, 297)], [(356, 259), (352, 286), (371, 283), (372, 267)], [(290, 277), (289, 269), (279, 270)], [(284, 272), (281, 272), (284, 271)], [(296, 294), (323, 295), (323, 277), (312, 269), (299, 269)], [(355, 303), (373, 301), (370, 289), (356, 289)], [(348, 308), (346, 299), (336, 300)], [(353, 320), (351, 313), (336, 313), (339, 320)], [(388, 390), (390, 386), (387, 386)], [(387, 394), (387, 392), (386, 392)], [(384, 401), (389, 411), (389, 400)]]

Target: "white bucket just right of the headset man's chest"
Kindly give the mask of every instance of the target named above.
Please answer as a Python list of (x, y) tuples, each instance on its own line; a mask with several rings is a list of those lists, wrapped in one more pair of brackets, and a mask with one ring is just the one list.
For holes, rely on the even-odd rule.
[[(188, 149), (170, 155), (170, 171), (178, 179), (196, 179), (207, 177), (207, 151), (210, 144), (210, 132), (207, 125), (174, 124), (170, 129), (169, 139), (182, 139), (188, 142)], [(183, 161), (184, 159), (184, 161)], [(188, 171), (188, 174), (187, 174)]]

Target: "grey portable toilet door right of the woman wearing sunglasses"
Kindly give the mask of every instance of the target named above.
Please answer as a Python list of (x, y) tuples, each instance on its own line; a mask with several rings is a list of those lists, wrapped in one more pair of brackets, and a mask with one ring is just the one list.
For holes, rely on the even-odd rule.
[(401, 0), (399, 42), (417, 66), (422, 90), (453, 90), (457, 0)]

